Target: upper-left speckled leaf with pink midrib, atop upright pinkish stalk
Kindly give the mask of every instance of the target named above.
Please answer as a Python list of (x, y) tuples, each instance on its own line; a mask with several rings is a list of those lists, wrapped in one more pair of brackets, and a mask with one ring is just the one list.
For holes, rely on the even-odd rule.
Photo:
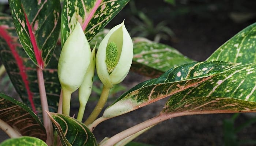
[(31, 60), (45, 68), (60, 32), (59, 0), (9, 0), (15, 28)]

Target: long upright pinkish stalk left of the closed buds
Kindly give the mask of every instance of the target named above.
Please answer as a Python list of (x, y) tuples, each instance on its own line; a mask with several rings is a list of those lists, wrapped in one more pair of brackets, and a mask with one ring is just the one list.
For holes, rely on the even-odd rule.
[(39, 94), (40, 94), (40, 100), (41, 100), (41, 106), (42, 106), (44, 127), (47, 134), (46, 143), (48, 146), (51, 146), (53, 143), (53, 127), (52, 127), (52, 122), (50, 121), (50, 118), (46, 113), (46, 111), (49, 111), (49, 106), (46, 98), (43, 70), (38, 67), (37, 67), (37, 78), (38, 78), (38, 88), (39, 88)]

